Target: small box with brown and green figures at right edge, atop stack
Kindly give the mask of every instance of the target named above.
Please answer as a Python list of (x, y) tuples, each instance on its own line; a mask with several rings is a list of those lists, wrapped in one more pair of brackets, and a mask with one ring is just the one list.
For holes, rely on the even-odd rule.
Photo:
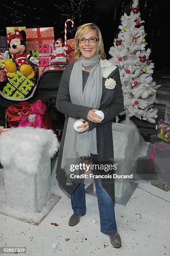
[(157, 137), (170, 143), (170, 123), (158, 121)]

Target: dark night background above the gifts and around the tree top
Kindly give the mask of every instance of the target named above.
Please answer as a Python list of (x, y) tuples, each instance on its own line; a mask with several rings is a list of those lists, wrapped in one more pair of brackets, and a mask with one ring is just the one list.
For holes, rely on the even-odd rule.
[[(54, 0), (32, 2), (8, 1), (0, 3), (0, 36), (6, 35), (7, 26), (26, 26), (26, 28), (54, 27), (55, 38), (64, 39), (66, 19), (74, 20), (67, 25), (67, 39), (74, 38), (76, 28), (84, 23), (94, 22), (101, 29), (107, 59), (114, 38), (119, 33), (118, 26), (124, 11), (130, 13), (132, 0)], [(139, 0), (141, 20), (144, 20), (147, 33), (147, 46), (151, 49), (150, 60), (155, 70), (170, 68), (169, 44), (169, 8), (167, 1)]]

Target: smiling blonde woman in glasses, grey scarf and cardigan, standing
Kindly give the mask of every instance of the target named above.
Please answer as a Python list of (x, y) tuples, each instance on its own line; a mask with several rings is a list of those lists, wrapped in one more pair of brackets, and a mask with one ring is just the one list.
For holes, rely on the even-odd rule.
[[(86, 214), (86, 199), (84, 179), (81, 175), (73, 177), (69, 166), (73, 167), (75, 163), (81, 166), (86, 160), (100, 166), (101, 163), (113, 163), (112, 120), (123, 106), (119, 69), (106, 60), (99, 27), (94, 23), (80, 26), (75, 35), (75, 61), (63, 72), (56, 100), (56, 108), (66, 115), (56, 174), (58, 182), (71, 195), (74, 214), (69, 220), (70, 226), (78, 224), (81, 216)], [(102, 121), (96, 119), (101, 118), (96, 110), (104, 113)], [(76, 120), (83, 122), (78, 126), (83, 129), (78, 132), (73, 128)], [(121, 238), (114, 212), (114, 170), (104, 172), (99, 168), (92, 171), (96, 175), (101, 232), (108, 234), (112, 245), (119, 248)], [(84, 169), (80, 167), (74, 170), (74, 174), (83, 173)]]

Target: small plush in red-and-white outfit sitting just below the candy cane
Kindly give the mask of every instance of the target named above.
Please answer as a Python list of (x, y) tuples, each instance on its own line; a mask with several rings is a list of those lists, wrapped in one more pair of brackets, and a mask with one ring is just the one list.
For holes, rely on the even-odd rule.
[[(67, 54), (72, 51), (70, 45), (66, 46), (66, 51)], [(51, 63), (53, 64), (55, 62), (66, 62), (66, 58), (64, 56), (64, 44), (61, 38), (58, 38), (54, 42), (54, 50), (53, 55), (51, 56)]]

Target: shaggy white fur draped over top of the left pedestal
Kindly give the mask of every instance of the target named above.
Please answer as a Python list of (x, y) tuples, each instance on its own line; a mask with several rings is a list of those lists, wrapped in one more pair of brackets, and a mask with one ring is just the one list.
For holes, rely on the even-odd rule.
[(49, 158), (58, 151), (58, 139), (52, 130), (33, 127), (11, 128), (0, 135), (0, 162), (5, 168), (15, 166), (28, 174), (35, 174), (38, 172), (44, 147)]

